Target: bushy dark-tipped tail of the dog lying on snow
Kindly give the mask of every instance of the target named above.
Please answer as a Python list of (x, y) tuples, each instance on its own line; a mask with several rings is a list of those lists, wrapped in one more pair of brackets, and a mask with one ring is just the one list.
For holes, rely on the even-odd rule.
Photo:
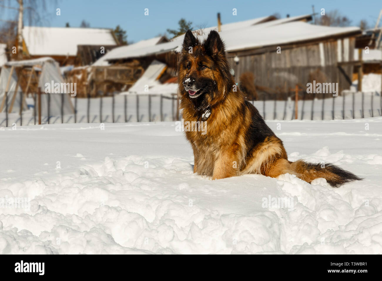
[[(317, 178), (324, 178), (332, 187), (339, 187), (353, 180), (362, 180), (362, 178), (354, 175), (351, 172), (335, 166), (330, 163), (313, 164), (298, 160), (291, 162), (289, 170), (293, 172), (298, 178), (311, 183), (312, 180)], [(289, 171), (288, 171), (289, 172)]]

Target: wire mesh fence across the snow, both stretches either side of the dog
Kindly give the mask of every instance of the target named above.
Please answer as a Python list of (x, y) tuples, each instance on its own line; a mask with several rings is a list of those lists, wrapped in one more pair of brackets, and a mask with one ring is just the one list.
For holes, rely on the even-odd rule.
[[(329, 120), (382, 116), (379, 92), (343, 91), (333, 97), (306, 92), (259, 94), (250, 101), (265, 120)], [(55, 123), (157, 122), (181, 119), (176, 96), (120, 95), (87, 98), (69, 94), (0, 93), (0, 127)], [(39, 106), (40, 109), (39, 109)], [(297, 114), (296, 114), (297, 112)], [(297, 117), (297, 118), (296, 118)]]

